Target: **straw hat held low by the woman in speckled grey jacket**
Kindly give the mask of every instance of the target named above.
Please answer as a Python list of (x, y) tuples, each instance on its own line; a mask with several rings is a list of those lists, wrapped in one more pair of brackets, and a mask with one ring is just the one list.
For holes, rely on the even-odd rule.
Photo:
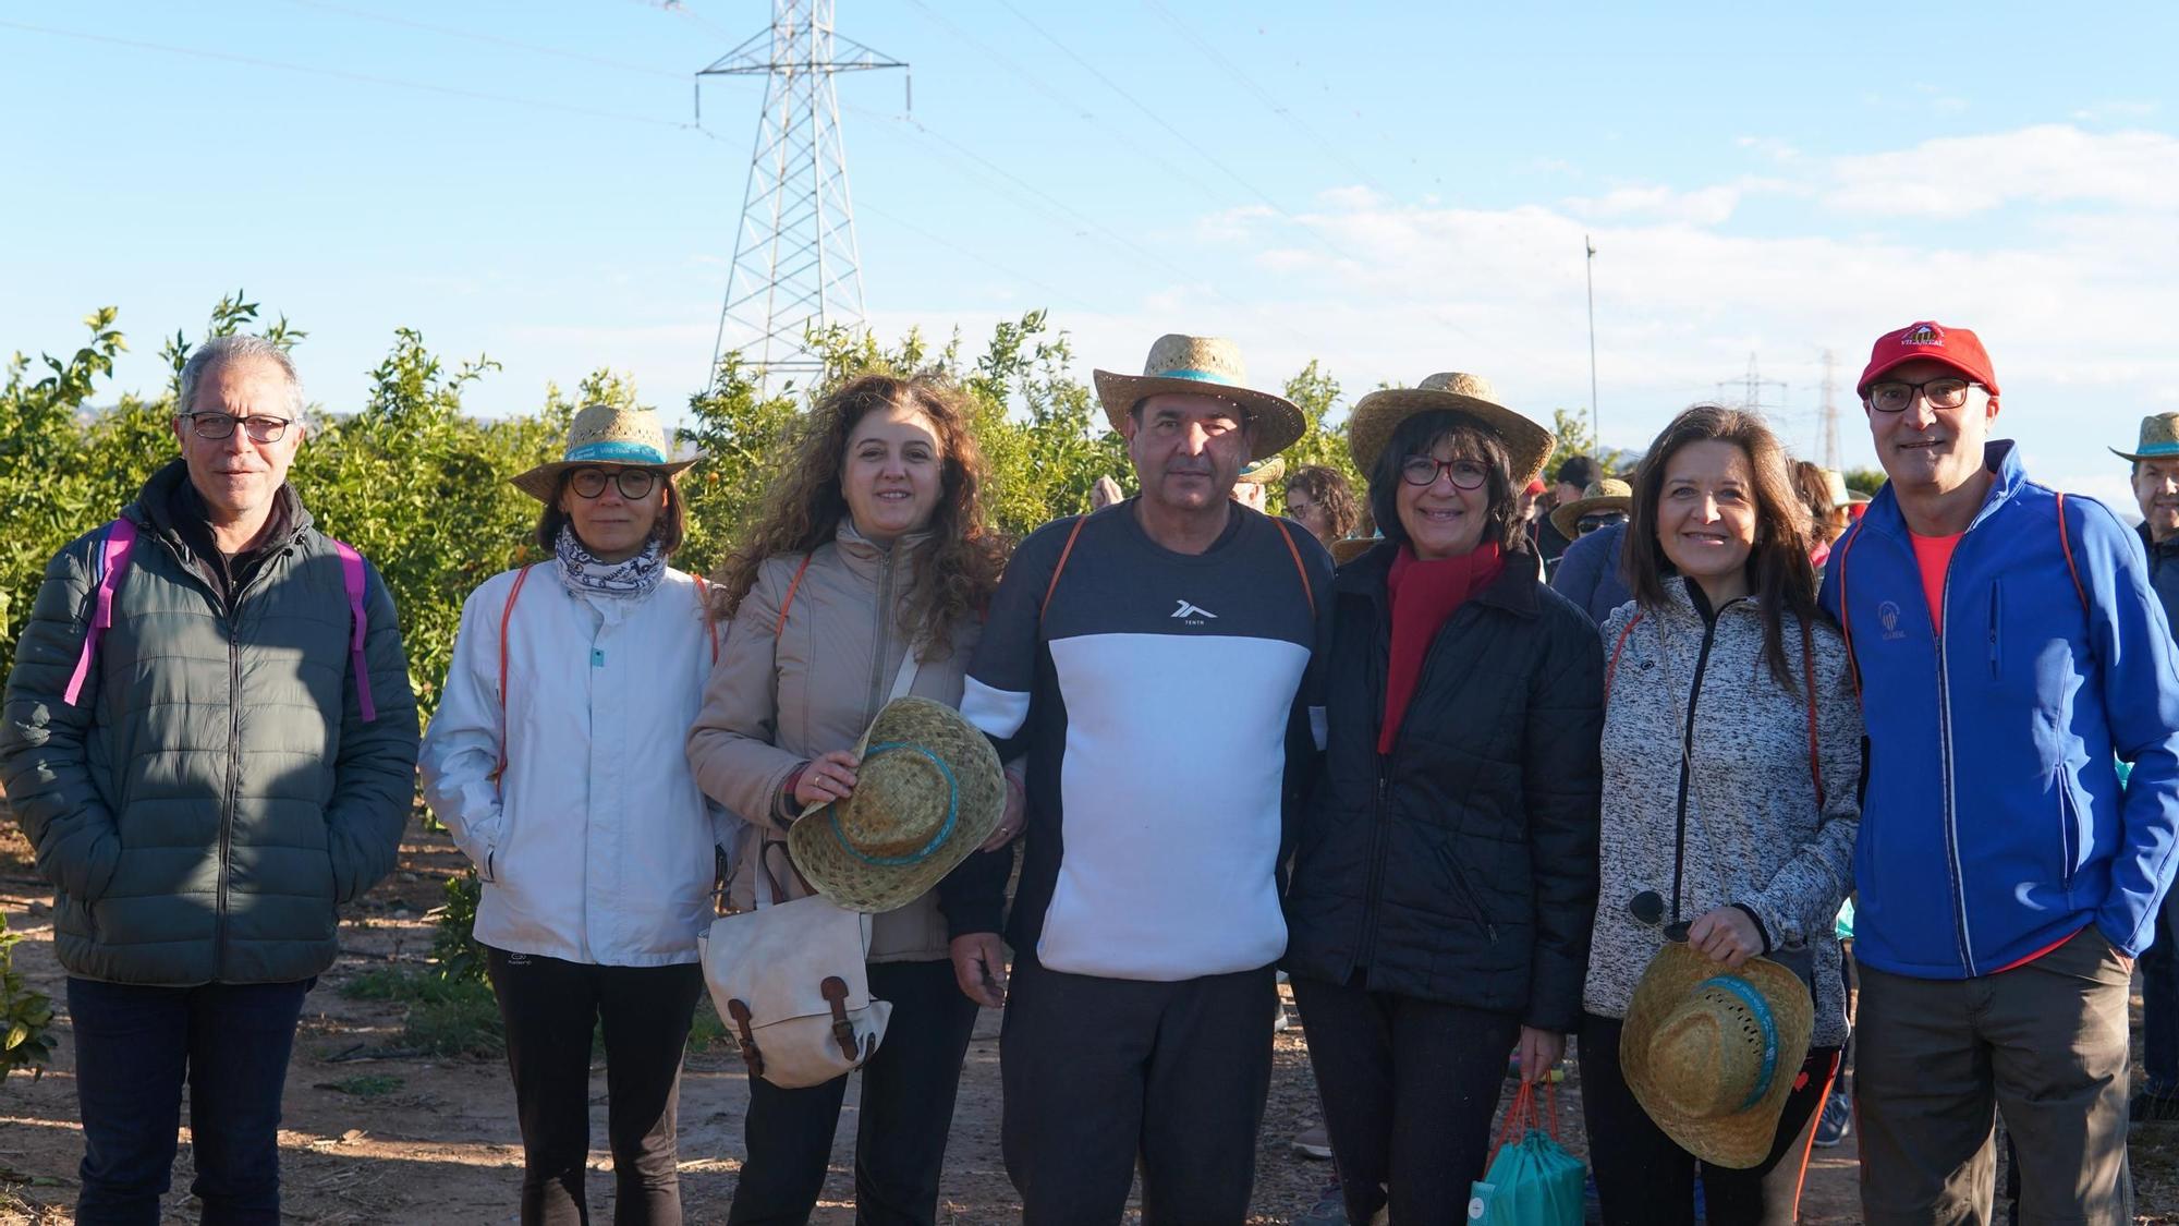
[(1715, 1167), (1748, 1169), (1772, 1152), (1813, 1030), (1815, 1003), (1793, 971), (1767, 958), (1726, 971), (1671, 942), (1628, 1003), (1619, 1067), (1673, 1143)]

